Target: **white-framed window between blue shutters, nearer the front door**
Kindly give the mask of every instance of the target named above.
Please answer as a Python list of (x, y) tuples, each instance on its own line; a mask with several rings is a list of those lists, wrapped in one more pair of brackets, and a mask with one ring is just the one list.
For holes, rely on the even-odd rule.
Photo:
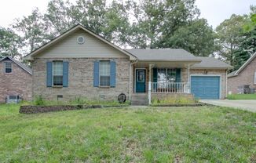
[(110, 61), (100, 62), (100, 85), (110, 85)]

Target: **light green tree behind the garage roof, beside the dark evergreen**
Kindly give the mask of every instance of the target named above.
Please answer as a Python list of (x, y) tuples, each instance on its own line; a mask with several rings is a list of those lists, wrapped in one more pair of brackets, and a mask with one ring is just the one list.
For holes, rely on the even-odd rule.
[(239, 49), (240, 42), (243, 40), (243, 26), (246, 23), (247, 16), (233, 14), (216, 28), (218, 45), (221, 47), (218, 55), (225, 58), (232, 66), (234, 66), (234, 53)]

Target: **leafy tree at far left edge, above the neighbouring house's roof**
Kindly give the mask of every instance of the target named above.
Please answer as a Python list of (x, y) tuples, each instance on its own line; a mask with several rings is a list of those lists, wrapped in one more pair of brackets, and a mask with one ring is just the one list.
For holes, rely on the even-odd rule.
[(21, 38), (11, 29), (0, 27), (0, 58), (3, 56), (20, 56)]

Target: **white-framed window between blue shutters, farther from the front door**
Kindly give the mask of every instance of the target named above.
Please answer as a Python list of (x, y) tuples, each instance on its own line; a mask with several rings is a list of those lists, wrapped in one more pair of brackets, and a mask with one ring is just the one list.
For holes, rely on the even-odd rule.
[(53, 86), (63, 85), (63, 62), (53, 61)]

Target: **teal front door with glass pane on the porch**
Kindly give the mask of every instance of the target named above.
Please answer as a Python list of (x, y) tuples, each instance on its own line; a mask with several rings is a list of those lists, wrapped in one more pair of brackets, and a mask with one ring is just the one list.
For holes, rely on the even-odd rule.
[(146, 92), (146, 71), (136, 70), (136, 92)]

